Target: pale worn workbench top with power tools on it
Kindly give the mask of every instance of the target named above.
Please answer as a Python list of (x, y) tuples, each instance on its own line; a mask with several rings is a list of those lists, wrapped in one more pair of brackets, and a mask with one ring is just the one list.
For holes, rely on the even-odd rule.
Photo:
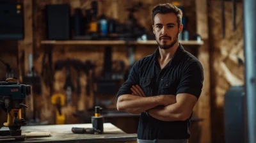
[[(104, 133), (94, 134), (75, 134), (71, 132), (72, 127), (92, 128), (92, 124), (60, 124), (60, 125), (41, 125), (41, 126), (22, 126), (22, 134), (36, 132), (36, 133), (50, 133), (51, 137), (42, 137), (34, 139), (26, 139), (24, 142), (137, 142), (136, 133), (125, 133), (111, 123), (104, 123)], [(8, 130), (2, 127), (0, 130)], [(14, 142), (14, 141), (12, 141)]]

